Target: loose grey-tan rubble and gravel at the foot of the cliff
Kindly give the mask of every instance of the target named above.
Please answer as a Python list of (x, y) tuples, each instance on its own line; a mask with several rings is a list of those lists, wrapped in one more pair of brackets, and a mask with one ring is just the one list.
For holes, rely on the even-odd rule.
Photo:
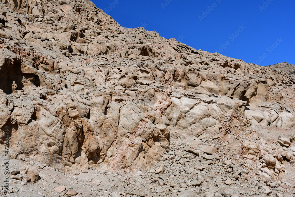
[[(91, 166), (89, 170), (64, 173), (35, 164), (40, 166), (39, 175), (42, 178), (33, 185), (22, 186), (15, 182), (11, 191), (24, 195), (32, 188), (39, 195), (104, 197), (295, 195), (294, 173), (293, 177), (274, 179), (262, 175), (258, 165), (249, 169), (246, 159), (242, 160), (229, 151), (231, 145), (228, 142), (235, 138), (253, 140), (251, 137), (230, 135), (227, 140), (213, 137), (198, 139), (199, 145), (175, 141), (170, 144), (171, 151), (165, 154), (162, 161), (140, 170), (109, 171)], [(288, 166), (291, 163), (284, 161), (284, 164)], [(15, 173), (18, 172), (15, 170)], [(41, 189), (43, 184), (47, 186)]]

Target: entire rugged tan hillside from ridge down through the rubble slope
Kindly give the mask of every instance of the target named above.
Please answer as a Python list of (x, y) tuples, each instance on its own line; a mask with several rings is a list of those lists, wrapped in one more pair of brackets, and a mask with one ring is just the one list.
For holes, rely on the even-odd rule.
[(8, 127), (9, 158), (35, 165), (16, 169), (13, 183), (35, 183), (39, 168), (35, 184), (51, 195), (60, 188), (43, 184), (104, 169), (124, 184), (98, 195), (294, 192), (292, 75), (123, 28), (89, 0), (2, 0), (0, 14), (0, 143)]

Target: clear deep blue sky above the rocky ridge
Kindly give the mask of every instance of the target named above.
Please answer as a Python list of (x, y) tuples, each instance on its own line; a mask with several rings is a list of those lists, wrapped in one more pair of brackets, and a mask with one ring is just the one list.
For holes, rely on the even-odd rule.
[(261, 66), (295, 65), (294, 0), (94, 0), (123, 27)]

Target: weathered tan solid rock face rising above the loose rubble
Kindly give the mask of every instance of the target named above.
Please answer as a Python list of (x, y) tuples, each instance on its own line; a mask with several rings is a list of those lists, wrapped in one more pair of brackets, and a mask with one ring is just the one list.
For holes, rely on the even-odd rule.
[[(123, 28), (88, 0), (3, 0), (0, 14), (0, 128), (13, 158), (147, 167), (169, 141), (295, 128), (291, 75)], [(281, 172), (293, 157), (276, 149), (274, 165), (259, 143), (242, 145), (249, 167), (262, 159), (261, 169)]]

